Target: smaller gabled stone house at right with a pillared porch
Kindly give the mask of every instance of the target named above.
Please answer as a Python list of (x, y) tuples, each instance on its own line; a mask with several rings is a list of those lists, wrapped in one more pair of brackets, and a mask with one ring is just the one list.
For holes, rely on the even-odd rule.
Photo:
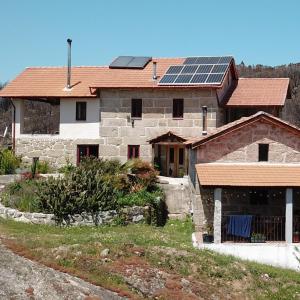
[(249, 242), (230, 231), (231, 216), (250, 215), (249, 234), (300, 242), (300, 129), (265, 112), (243, 117), (185, 142), (198, 239)]

